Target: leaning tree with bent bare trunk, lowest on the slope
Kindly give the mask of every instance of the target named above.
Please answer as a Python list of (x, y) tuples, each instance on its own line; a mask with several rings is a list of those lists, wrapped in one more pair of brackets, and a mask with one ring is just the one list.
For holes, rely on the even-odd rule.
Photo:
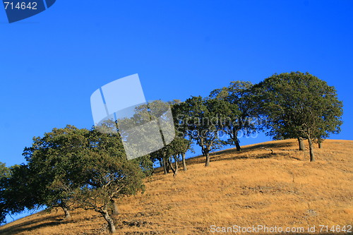
[(90, 147), (84, 155), (85, 183), (76, 188), (76, 207), (99, 212), (108, 224), (109, 232), (116, 228), (109, 207), (114, 198), (144, 191), (140, 162), (128, 160), (121, 139), (115, 133), (101, 133), (92, 128)]

